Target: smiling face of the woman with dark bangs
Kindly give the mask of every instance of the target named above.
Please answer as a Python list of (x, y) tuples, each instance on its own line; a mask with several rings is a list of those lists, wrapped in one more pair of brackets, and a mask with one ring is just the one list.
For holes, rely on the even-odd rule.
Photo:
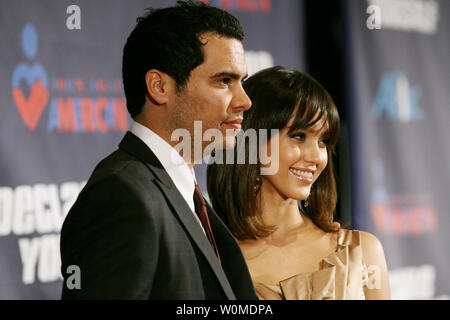
[[(273, 175), (261, 176), (264, 196), (277, 194), (283, 199), (308, 198), (312, 184), (328, 163), (328, 141), (323, 137), (328, 124), (324, 121), (325, 117), (308, 129), (288, 133), (293, 123), (291, 119), (288, 126), (280, 130), (278, 171)], [(270, 153), (270, 143), (267, 147)]]

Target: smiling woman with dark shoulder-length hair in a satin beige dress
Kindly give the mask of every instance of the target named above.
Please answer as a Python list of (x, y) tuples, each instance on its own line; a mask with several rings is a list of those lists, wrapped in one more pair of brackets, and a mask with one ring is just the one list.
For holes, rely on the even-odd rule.
[[(259, 298), (389, 299), (378, 239), (333, 223), (339, 116), (329, 94), (312, 77), (282, 67), (258, 72), (244, 88), (253, 104), (243, 131), (269, 129), (279, 156), (265, 164), (210, 164), (208, 194), (238, 240)], [(270, 129), (279, 133), (270, 136)], [(269, 155), (271, 148), (267, 143)], [(244, 149), (248, 160), (249, 144)], [(261, 175), (274, 164), (275, 174)]]

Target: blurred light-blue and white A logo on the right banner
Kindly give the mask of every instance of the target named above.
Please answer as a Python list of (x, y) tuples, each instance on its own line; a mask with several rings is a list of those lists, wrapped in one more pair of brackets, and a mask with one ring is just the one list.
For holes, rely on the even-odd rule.
[(392, 121), (413, 122), (424, 119), (419, 105), (422, 90), (419, 86), (411, 86), (402, 72), (384, 74), (381, 77), (371, 114), (375, 119), (385, 115)]

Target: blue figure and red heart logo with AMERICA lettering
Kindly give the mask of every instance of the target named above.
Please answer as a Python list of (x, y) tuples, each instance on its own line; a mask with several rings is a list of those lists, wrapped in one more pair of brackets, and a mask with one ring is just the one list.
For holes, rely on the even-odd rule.
[(36, 57), (38, 33), (32, 23), (22, 30), (20, 62), (12, 74), (12, 96), (25, 126), (34, 131), (48, 108), (49, 132), (126, 131), (128, 112), (120, 79), (49, 77)]

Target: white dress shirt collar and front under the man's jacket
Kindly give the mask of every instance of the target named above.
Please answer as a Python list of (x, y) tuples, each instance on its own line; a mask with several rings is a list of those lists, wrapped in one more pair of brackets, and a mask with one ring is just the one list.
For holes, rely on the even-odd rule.
[(191, 170), (178, 151), (151, 129), (134, 121), (130, 131), (156, 155), (202, 227), (200, 219), (195, 213), (194, 190), (196, 179), (194, 169)]

